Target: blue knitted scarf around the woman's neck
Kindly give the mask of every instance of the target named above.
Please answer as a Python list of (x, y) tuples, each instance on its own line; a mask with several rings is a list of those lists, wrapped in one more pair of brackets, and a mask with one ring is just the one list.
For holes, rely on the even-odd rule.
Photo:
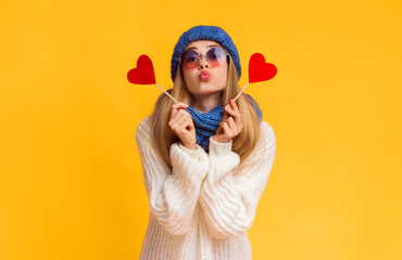
[[(255, 109), (256, 117), (261, 122), (262, 112), (253, 98), (250, 95), (248, 96), (252, 101), (251, 103)], [(215, 134), (215, 131), (224, 116), (224, 105), (221, 103), (212, 108), (209, 113), (201, 113), (191, 105), (189, 105), (186, 110), (191, 115), (194, 122), (197, 143), (206, 153), (209, 153), (210, 138)]]

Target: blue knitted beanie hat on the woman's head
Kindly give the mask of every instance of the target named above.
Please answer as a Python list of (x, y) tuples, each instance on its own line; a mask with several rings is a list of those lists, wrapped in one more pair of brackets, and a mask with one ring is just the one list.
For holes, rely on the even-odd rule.
[(178, 58), (180, 57), (181, 53), (185, 51), (187, 46), (196, 40), (213, 40), (219, 43), (223, 48), (225, 48), (226, 51), (230, 54), (233, 61), (235, 62), (237, 75), (240, 79), (241, 76), (240, 57), (239, 54), (237, 53), (236, 46), (231, 41), (231, 38), (228, 36), (228, 34), (226, 34), (225, 30), (217, 26), (199, 25), (185, 31), (180, 36), (175, 46), (171, 62), (171, 77), (173, 81), (175, 81), (176, 77)]

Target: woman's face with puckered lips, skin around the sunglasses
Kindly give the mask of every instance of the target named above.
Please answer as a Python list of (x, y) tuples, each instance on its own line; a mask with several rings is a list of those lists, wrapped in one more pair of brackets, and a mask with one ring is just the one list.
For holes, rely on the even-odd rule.
[(192, 49), (202, 55), (200, 63), (196, 67), (186, 68), (181, 66), (187, 88), (193, 95), (213, 94), (222, 92), (226, 88), (228, 70), (227, 61), (222, 65), (216, 65), (216, 62), (208, 62), (205, 58), (206, 52), (213, 47), (222, 48), (215, 41), (198, 40), (191, 42), (185, 50)]

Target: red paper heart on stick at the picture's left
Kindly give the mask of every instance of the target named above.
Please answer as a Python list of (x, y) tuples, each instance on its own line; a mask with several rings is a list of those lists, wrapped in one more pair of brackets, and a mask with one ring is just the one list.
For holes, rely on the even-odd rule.
[(146, 54), (140, 55), (137, 60), (137, 67), (127, 73), (127, 79), (130, 83), (154, 84), (156, 80), (151, 58)]

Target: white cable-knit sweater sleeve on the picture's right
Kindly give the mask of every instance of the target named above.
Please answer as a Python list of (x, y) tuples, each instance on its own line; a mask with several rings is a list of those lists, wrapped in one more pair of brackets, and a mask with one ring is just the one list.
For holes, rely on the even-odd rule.
[(256, 205), (266, 185), (276, 150), (273, 129), (261, 122), (261, 138), (246, 167), (236, 176), (239, 155), (231, 152), (231, 141), (218, 143), (210, 139), (209, 173), (202, 183), (200, 204), (212, 236), (226, 238), (251, 226)]

